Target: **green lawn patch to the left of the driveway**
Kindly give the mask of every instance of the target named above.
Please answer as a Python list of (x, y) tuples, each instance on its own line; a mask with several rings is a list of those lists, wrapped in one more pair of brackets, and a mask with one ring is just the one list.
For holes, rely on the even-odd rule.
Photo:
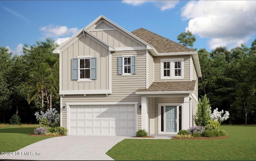
[(17, 151), (27, 145), (52, 136), (30, 136), (38, 125), (0, 124), (0, 152)]

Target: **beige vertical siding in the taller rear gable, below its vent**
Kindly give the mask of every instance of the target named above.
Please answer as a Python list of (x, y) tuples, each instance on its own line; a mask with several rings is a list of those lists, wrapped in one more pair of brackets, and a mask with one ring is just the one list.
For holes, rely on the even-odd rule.
[(112, 47), (138, 47), (142, 46), (130, 37), (124, 35), (118, 30), (98, 30), (91, 31), (92, 34), (102, 39)]

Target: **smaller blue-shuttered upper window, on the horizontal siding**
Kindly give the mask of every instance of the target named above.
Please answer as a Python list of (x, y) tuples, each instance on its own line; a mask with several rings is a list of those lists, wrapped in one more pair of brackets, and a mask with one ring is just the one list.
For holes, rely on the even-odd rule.
[(120, 75), (133, 75), (136, 73), (136, 57), (123, 56), (118, 57), (118, 74)]

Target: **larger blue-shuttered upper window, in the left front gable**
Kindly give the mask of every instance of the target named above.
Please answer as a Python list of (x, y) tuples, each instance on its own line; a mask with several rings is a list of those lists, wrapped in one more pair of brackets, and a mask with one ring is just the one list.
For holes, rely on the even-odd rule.
[(96, 79), (96, 57), (82, 56), (72, 59), (72, 80), (87, 82)]

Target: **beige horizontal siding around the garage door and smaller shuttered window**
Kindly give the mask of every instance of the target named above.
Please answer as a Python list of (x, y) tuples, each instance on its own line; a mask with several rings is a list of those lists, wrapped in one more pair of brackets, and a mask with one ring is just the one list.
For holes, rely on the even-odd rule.
[[(136, 74), (132, 76), (118, 75), (118, 57), (121, 55), (136, 56)], [(66, 102), (141, 102), (141, 96), (135, 94), (139, 88), (146, 88), (146, 51), (123, 51), (112, 53), (112, 94), (65, 95)], [(66, 113), (62, 113), (63, 123)], [(138, 110), (138, 129), (141, 128), (141, 111)], [(64, 124), (63, 124), (64, 125)]]

